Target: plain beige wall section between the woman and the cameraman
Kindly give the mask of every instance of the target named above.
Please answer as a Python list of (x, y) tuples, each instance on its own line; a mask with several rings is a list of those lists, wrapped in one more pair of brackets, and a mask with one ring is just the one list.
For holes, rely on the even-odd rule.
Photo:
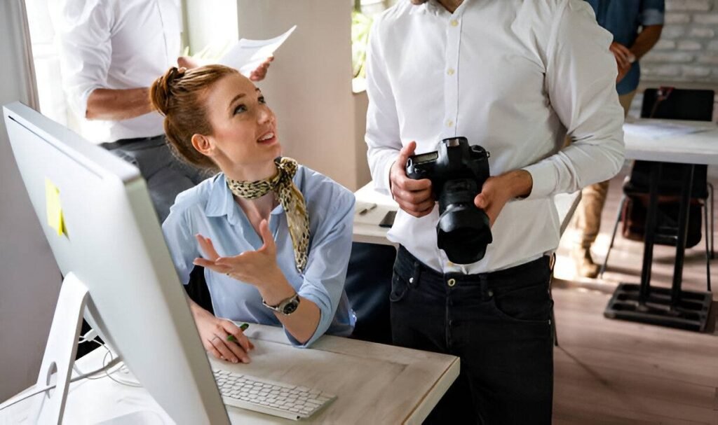
[[(297, 30), (258, 86), (277, 115), (284, 155), (354, 190), (368, 182), (363, 95), (351, 87), (349, 0), (238, 0), (239, 36)], [(363, 108), (361, 110), (360, 108)]]

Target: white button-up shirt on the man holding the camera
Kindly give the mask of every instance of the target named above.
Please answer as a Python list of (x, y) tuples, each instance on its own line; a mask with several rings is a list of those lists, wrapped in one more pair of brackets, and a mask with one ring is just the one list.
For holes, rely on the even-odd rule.
[[(525, 169), (531, 195), (509, 201), (485, 257), (458, 266), (437, 248), (439, 208), (399, 211), (388, 239), (439, 272), (480, 273), (541, 257), (559, 243), (553, 196), (623, 166), (623, 109), (611, 34), (582, 0), (464, 0), (454, 13), (400, 0), (373, 24), (366, 142), (376, 188), (387, 192), (402, 145), (435, 151), (465, 136), (490, 152), (490, 173)], [(567, 133), (573, 143), (562, 148)]]

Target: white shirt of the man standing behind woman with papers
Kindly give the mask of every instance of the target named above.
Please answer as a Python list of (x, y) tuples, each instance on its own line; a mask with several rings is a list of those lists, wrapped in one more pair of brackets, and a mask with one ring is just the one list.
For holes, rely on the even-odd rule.
[[(149, 87), (177, 65), (179, 0), (61, 0), (56, 7), (62, 84), (82, 120), (93, 90)], [(164, 133), (162, 115), (156, 112), (91, 124), (99, 130), (92, 135), (95, 142)]]

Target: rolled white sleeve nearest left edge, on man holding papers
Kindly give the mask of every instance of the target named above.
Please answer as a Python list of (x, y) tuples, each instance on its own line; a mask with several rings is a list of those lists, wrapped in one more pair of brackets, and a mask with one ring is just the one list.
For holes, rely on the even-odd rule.
[(83, 118), (93, 90), (107, 87), (112, 20), (111, 8), (98, 0), (65, 0), (55, 14), (62, 85), (70, 108)]

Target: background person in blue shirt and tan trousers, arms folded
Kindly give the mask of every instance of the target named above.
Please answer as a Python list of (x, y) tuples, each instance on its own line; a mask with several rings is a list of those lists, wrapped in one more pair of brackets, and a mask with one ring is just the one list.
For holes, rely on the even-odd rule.
[[(661, 38), (664, 0), (586, 0), (596, 13), (598, 24), (613, 35), (611, 52), (616, 59), (618, 76), (616, 90), (628, 115), (640, 79), (639, 60)], [(601, 226), (601, 211), (606, 203), (608, 181), (587, 186), (582, 191), (577, 214), (579, 234), (572, 257), (577, 272), (583, 277), (597, 277), (599, 265), (593, 262), (591, 246)]]

